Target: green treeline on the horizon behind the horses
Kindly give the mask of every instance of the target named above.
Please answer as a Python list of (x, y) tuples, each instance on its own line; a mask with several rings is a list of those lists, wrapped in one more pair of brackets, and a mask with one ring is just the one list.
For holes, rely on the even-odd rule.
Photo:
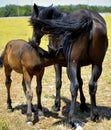
[[(76, 11), (78, 9), (91, 9), (99, 13), (111, 12), (111, 7), (106, 6), (88, 6), (88, 5), (58, 5), (58, 9), (64, 12)], [(0, 8), (0, 17), (14, 17), (14, 16), (30, 16), (32, 14), (33, 6), (17, 6), (6, 5)]]

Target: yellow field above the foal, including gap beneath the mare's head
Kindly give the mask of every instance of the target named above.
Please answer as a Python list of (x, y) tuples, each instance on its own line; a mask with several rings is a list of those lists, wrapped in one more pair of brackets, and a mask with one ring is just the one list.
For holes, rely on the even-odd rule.
[[(29, 40), (32, 37), (32, 26), (29, 17), (0, 18), (0, 49), (12, 39)], [(47, 37), (42, 40), (42, 47), (47, 49)], [(47, 42), (47, 43), (45, 43)]]

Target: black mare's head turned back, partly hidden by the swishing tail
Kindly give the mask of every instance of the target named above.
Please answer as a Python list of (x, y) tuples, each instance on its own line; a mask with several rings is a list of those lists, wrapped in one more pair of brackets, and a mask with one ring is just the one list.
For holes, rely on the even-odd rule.
[[(62, 16), (62, 13), (52, 5), (49, 7), (37, 6), (34, 4), (33, 13), (31, 16), (31, 24), (33, 19), (58, 19)], [(41, 31), (39, 26), (33, 26), (33, 35), (32, 40), (36, 41), (37, 44), (40, 44), (40, 40), (44, 33)]]

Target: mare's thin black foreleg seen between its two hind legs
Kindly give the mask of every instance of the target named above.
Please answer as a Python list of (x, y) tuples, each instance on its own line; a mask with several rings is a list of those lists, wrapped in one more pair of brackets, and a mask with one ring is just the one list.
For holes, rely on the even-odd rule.
[(78, 81), (79, 81), (79, 92), (80, 92), (80, 101), (81, 101), (81, 104), (80, 104), (80, 109), (81, 111), (89, 111), (89, 108), (88, 106), (86, 105), (85, 101), (85, 96), (84, 96), (84, 93), (83, 93), (83, 89), (82, 89), (82, 85), (83, 85), (83, 81), (82, 81), (82, 78), (81, 78), (81, 69), (78, 68)]

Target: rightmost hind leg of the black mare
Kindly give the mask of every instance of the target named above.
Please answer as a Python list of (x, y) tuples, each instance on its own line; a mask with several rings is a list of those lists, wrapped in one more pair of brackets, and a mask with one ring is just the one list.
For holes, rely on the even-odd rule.
[(89, 93), (91, 100), (91, 120), (99, 120), (99, 113), (96, 107), (96, 91), (97, 91), (97, 80), (99, 79), (102, 72), (102, 66), (93, 65), (92, 66), (92, 77), (89, 82)]

